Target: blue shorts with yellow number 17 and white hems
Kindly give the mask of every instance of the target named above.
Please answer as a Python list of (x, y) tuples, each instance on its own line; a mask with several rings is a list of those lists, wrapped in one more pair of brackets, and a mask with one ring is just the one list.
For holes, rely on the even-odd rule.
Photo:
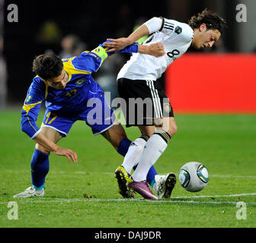
[(46, 109), (41, 127), (53, 128), (62, 137), (66, 137), (74, 122), (78, 120), (85, 121), (91, 127), (92, 133), (98, 135), (115, 124), (116, 115), (114, 110), (107, 105), (103, 92), (98, 92), (88, 99), (87, 109), (82, 112), (67, 115)]

